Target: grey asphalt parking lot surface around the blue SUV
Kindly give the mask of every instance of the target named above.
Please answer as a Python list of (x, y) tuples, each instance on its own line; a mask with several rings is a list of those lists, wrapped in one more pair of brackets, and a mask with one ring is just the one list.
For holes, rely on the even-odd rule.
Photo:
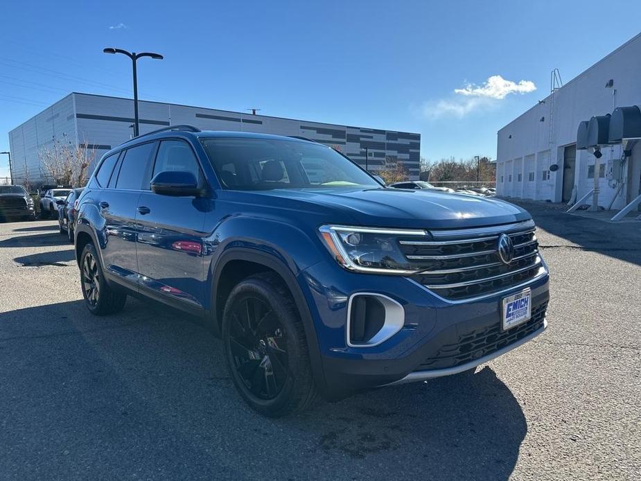
[(131, 298), (89, 315), (55, 222), (0, 224), (0, 478), (640, 479), (641, 222), (526, 207), (547, 333), (462, 383), (278, 420), (193, 320)]

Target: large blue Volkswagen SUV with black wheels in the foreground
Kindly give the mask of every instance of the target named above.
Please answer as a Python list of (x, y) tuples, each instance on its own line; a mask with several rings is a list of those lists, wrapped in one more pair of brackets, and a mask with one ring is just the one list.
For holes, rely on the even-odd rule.
[(472, 373), (545, 330), (534, 222), (388, 189), (313, 141), (174, 126), (108, 152), (80, 196), (91, 313), (128, 294), (202, 317), (256, 411)]

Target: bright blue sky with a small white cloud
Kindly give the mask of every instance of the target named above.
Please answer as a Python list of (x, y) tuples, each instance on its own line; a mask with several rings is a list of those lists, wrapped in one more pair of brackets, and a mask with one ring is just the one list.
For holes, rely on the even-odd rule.
[[(496, 155), (496, 132), (639, 33), (641, 2), (6, 2), (0, 150), (69, 93), (421, 133), (421, 156)], [(0, 176), (6, 175), (0, 157)]]

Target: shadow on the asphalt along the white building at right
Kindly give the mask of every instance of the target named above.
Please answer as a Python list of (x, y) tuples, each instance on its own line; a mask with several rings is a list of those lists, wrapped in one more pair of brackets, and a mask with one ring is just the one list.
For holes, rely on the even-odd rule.
[(641, 222), (604, 222), (570, 215), (556, 204), (549, 206), (520, 199), (509, 199), (509, 202), (527, 209), (537, 227), (574, 244), (541, 243), (544, 254), (546, 249), (578, 248), (641, 265)]

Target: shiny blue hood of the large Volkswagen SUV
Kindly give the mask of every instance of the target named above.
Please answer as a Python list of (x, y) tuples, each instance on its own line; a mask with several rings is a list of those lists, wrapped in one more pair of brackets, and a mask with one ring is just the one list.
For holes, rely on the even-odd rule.
[(527, 211), (495, 198), (427, 189), (274, 189), (256, 193), (265, 201), (286, 200), (290, 209), (316, 211), (324, 207), (331, 211), (331, 222), (376, 227), (479, 227), (530, 218)]

